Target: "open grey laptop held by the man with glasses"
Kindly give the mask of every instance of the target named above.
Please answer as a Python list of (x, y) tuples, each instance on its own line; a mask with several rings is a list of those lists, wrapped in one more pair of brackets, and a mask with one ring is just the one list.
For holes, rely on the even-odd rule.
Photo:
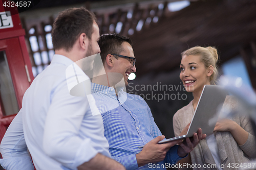
[[(228, 92), (224, 90), (222, 86), (205, 85), (187, 134), (164, 139), (158, 143), (166, 143), (187, 137), (193, 137), (194, 133), (197, 133), (199, 128), (202, 129), (203, 134), (211, 134), (214, 132), (214, 128), (227, 93)], [(143, 147), (144, 145), (141, 145), (138, 148)]]

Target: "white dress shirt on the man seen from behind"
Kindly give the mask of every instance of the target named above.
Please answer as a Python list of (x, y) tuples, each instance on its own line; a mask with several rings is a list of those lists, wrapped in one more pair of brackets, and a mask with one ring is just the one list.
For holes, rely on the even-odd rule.
[[(77, 169), (97, 153), (110, 157), (102, 117), (93, 116), (91, 112), (90, 106), (96, 106), (89, 106), (87, 95), (78, 97), (69, 93), (66, 68), (73, 63), (65, 56), (54, 55), (51, 64), (34, 79), (24, 94), (23, 115), (17, 117), (16, 122), (23, 124), (26, 144), (37, 170)], [(76, 76), (86, 75), (80, 71)], [(91, 90), (90, 81), (83, 84), (84, 92)], [(15, 121), (10, 126), (15, 126)], [(23, 142), (18, 134), (16, 137), (12, 136), (13, 141)], [(1, 153), (5, 152), (4, 148), (8, 148), (8, 143), (1, 143)], [(8, 152), (3, 153), (3, 158), (12, 158), (11, 154), (5, 155)]]

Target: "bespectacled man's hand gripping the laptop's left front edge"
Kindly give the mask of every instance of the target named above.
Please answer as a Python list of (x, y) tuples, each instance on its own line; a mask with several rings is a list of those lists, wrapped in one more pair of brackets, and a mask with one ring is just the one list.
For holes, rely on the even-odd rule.
[(181, 142), (181, 140), (176, 140), (168, 143), (158, 144), (159, 141), (164, 139), (164, 135), (158, 136), (151, 140), (143, 147), (142, 151), (136, 154), (136, 159), (138, 166), (143, 166), (147, 163), (155, 163), (164, 160), (166, 153), (169, 151), (170, 147)]

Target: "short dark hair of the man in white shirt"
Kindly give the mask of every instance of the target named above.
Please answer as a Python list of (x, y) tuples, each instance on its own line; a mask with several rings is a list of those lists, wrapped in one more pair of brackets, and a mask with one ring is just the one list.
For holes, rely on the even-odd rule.
[(60, 12), (53, 23), (52, 44), (55, 50), (70, 51), (78, 36), (85, 33), (89, 39), (93, 33), (95, 15), (86, 8), (69, 8)]

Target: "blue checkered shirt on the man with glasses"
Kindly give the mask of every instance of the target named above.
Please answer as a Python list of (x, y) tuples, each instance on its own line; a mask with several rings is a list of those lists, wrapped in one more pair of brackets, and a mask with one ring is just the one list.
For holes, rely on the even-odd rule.
[[(178, 156), (178, 145), (170, 148), (163, 161), (138, 167), (136, 154), (141, 152), (138, 146), (144, 145), (162, 135), (151, 110), (139, 96), (92, 83), (92, 94), (102, 115), (104, 136), (110, 145), (112, 159), (120, 162), (126, 169), (166, 169), (165, 163), (175, 164), (182, 159)], [(156, 166), (160, 168), (150, 168)], [(161, 166), (162, 164), (162, 166)]]

